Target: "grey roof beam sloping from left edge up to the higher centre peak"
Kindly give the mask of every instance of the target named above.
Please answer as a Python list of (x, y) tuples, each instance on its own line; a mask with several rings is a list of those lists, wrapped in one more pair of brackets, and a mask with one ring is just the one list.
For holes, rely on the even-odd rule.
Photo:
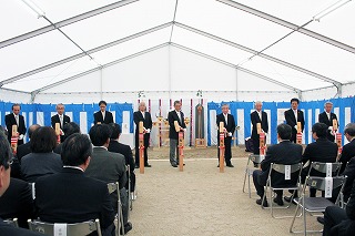
[(139, 33), (135, 33), (135, 34), (132, 34), (132, 35), (129, 35), (129, 37), (125, 37), (125, 38), (122, 38), (122, 39), (119, 39), (119, 40), (115, 40), (113, 42), (110, 42), (110, 43), (106, 43), (106, 44), (103, 44), (103, 45), (100, 45), (98, 48), (94, 48), (94, 49), (91, 49), (91, 50), (88, 50), (87, 52), (81, 52), (79, 54), (75, 54), (75, 55), (72, 55), (72, 57), (69, 57), (67, 59), (63, 59), (63, 60), (60, 60), (60, 61), (57, 61), (57, 62), (53, 62), (51, 64), (47, 64), (44, 66), (41, 66), (41, 68), (38, 68), (36, 70), (32, 70), (32, 71), (28, 71), (23, 74), (19, 74), (19, 75), (16, 75), (13, 78), (10, 78), (10, 79), (7, 79), (7, 80), (3, 80), (0, 82), (0, 88), (4, 84), (8, 84), (8, 83), (12, 83), (14, 81), (18, 81), (18, 80), (21, 80), (23, 78), (27, 78), (27, 76), (30, 76), (32, 74), (37, 74), (39, 72), (42, 72), (42, 71), (45, 71), (48, 69), (51, 69), (51, 68), (54, 68), (54, 66), (58, 66), (58, 65), (61, 65), (63, 63), (67, 63), (67, 62), (70, 62), (70, 61), (73, 61), (73, 60), (77, 60), (77, 59), (80, 59), (82, 57), (85, 57), (85, 55), (89, 55), (89, 54), (92, 54), (92, 53), (95, 53), (95, 52), (99, 52), (101, 50), (104, 50), (104, 49), (108, 49), (108, 48), (111, 48), (113, 45), (118, 45), (120, 43), (123, 43), (123, 42), (126, 42), (129, 40), (132, 40), (132, 39), (135, 39), (135, 38), (139, 38), (139, 37), (142, 37), (142, 35), (145, 35), (145, 34), (149, 34), (149, 33), (152, 33), (152, 32), (155, 32), (158, 30), (162, 30), (164, 28), (168, 28), (172, 25), (172, 22), (168, 22), (168, 23), (164, 23), (164, 24), (161, 24), (161, 25), (158, 25), (158, 27), (154, 27), (154, 28), (151, 28), (151, 29), (148, 29), (148, 30), (144, 30), (144, 31), (141, 31)]

